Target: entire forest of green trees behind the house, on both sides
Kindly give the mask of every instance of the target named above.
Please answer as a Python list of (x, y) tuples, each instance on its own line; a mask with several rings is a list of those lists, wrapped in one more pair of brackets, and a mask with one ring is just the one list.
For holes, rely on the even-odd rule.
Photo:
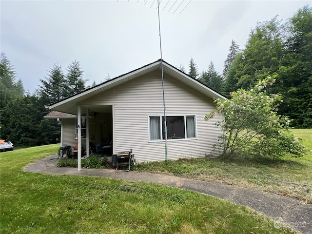
[[(274, 76), (274, 88), (269, 92), (283, 97), (277, 114), (290, 117), (296, 128), (312, 128), (311, 7), (300, 8), (284, 23), (277, 17), (257, 23), (243, 49), (232, 40), (222, 74), (216, 71), (213, 61), (201, 73), (193, 58), (188, 65), (188, 73), (183, 65), (178, 69), (227, 98), (233, 91), (249, 89), (259, 79)], [(44, 106), (90, 88), (86, 81), (77, 60), (66, 67), (66, 73), (55, 63), (47, 76), (40, 79), (35, 93), (29, 94), (21, 79), (16, 80), (14, 66), (2, 52), (0, 137), (29, 146), (59, 142), (58, 122), (42, 118), (49, 112)], [(95, 85), (93, 82), (92, 86)]]

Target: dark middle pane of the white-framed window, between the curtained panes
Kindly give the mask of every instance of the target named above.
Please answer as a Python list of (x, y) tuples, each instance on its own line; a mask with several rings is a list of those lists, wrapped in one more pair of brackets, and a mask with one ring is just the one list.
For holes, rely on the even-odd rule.
[[(168, 139), (185, 138), (184, 116), (167, 116), (167, 137)], [(162, 117), (162, 122), (165, 119)], [(163, 123), (163, 126), (164, 123)], [(162, 138), (165, 139), (165, 132), (163, 129)]]

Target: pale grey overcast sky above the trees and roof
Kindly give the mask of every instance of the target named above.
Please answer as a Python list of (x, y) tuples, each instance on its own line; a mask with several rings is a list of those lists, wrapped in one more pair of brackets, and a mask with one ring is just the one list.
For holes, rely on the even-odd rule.
[[(193, 57), (198, 71), (210, 61), (223, 70), (231, 40), (244, 48), (257, 22), (285, 22), (311, 0), (162, 0), (162, 58), (179, 67)], [(97, 84), (160, 59), (157, 0), (1, 0), (0, 48), (17, 79), (34, 93), (58, 62), (64, 73), (80, 61)]]

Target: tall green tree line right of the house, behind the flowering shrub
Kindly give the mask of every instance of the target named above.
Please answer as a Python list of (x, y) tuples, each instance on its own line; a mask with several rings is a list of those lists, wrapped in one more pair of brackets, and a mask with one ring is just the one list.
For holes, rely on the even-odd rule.
[(188, 75), (227, 98), (274, 76), (270, 92), (283, 98), (277, 114), (290, 117), (293, 127), (312, 128), (312, 8), (300, 8), (284, 23), (277, 16), (257, 23), (243, 49), (232, 40), (222, 74), (212, 61), (200, 74), (191, 58)]

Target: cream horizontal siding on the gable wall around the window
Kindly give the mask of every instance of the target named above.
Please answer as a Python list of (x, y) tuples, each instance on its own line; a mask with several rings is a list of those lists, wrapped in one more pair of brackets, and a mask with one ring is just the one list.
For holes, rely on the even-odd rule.
[[(213, 100), (195, 92), (175, 78), (164, 77), (167, 115), (195, 115), (196, 139), (168, 140), (167, 159), (203, 157), (213, 154), (221, 131), (204, 116), (214, 108)], [(150, 73), (106, 91), (80, 104), (114, 105), (114, 152), (133, 149), (138, 162), (165, 159), (165, 142), (149, 142), (149, 115), (163, 115), (162, 82), (159, 72)]]

